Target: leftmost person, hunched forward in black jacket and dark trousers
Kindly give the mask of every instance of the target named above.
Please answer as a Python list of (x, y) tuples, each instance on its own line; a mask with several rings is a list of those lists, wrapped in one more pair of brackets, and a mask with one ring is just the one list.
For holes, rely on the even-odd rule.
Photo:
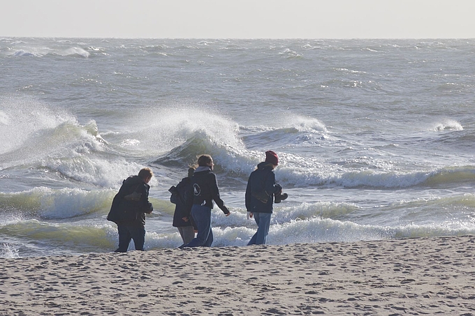
[(112, 201), (108, 220), (117, 224), (119, 232), (119, 248), (115, 250), (116, 253), (126, 253), (132, 239), (136, 250), (144, 250), (145, 213), (152, 213), (154, 209), (148, 200), (148, 183), (152, 176), (149, 168), (143, 168), (137, 176), (129, 176), (122, 182)]

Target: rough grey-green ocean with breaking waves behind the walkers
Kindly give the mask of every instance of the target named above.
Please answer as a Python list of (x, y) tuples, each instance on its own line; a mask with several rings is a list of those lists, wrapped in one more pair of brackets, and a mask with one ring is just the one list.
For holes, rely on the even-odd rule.
[[(196, 156), (213, 246), (246, 246), (247, 178), (279, 155), (268, 243), (475, 234), (475, 40), (0, 38), (0, 257), (108, 253), (122, 180), (151, 167), (146, 250)], [(133, 249), (133, 245), (131, 245)]]

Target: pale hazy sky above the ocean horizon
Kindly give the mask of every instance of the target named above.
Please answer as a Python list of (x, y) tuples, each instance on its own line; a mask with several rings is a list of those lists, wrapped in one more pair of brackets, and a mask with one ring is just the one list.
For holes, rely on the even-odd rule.
[(0, 37), (475, 38), (475, 0), (3, 0)]

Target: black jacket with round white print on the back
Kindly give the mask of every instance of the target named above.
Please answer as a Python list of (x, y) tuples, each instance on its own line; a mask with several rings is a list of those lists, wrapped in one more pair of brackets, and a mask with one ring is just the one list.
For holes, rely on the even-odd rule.
[(213, 200), (225, 214), (229, 213), (224, 201), (219, 197), (219, 188), (216, 175), (210, 167), (196, 168), (191, 177), (191, 186), (193, 187), (193, 198), (189, 199), (189, 204), (198, 204), (213, 208)]

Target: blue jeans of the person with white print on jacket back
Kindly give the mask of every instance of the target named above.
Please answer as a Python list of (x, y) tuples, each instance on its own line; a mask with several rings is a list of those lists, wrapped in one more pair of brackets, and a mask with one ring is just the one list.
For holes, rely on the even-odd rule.
[(211, 229), (211, 209), (207, 206), (193, 204), (191, 216), (198, 228), (196, 238), (193, 238), (184, 247), (211, 247), (213, 243), (213, 231)]

